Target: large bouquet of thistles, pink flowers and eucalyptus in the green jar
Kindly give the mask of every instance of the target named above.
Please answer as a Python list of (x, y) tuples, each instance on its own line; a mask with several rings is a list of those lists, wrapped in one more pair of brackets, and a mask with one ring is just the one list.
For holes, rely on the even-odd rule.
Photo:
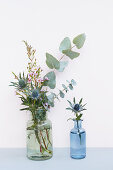
[[(59, 99), (59, 97), (64, 98), (65, 93), (67, 93), (69, 89), (73, 89), (73, 86), (76, 83), (72, 79), (71, 81), (67, 81), (67, 86), (62, 84), (63, 89), (59, 90), (58, 94), (53, 91), (51, 92), (51, 89), (56, 87), (55, 70), (63, 72), (68, 64), (68, 61), (61, 60), (64, 56), (68, 56), (71, 60), (78, 57), (80, 53), (72, 51), (72, 48), (76, 46), (80, 49), (84, 42), (85, 34), (80, 34), (73, 39), (74, 46), (71, 45), (71, 41), (68, 37), (64, 38), (59, 47), (60, 52), (63, 53), (59, 60), (51, 54), (46, 53), (46, 64), (51, 71), (49, 71), (45, 76), (42, 76), (42, 68), (38, 66), (35, 58), (36, 50), (24, 41), (29, 59), (27, 73), (23, 72), (18, 76), (13, 73), (16, 81), (11, 82), (11, 86), (15, 87), (16, 95), (19, 96), (22, 102), (21, 104), (24, 106), (24, 108), (20, 110), (27, 110), (32, 114), (33, 124), (27, 128), (28, 130), (34, 130), (41, 121), (45, 120), (47, 111), (49, 111), (51, 107), (54, 107), (55, 99)], [(46, 134), (43, 134), (43, 132), (46, 132)], [(40, 152), (42, 154), (45, 151), (50, 153), (47, 147), (50, 144), (47, 129), (40, 129), (40, 135), (38, 135), (38, 133), (39, 132), (35, 131), (37, 141), (40, 145)], [(45, 142), (46, 138), (48, 140), (48, 144)]]

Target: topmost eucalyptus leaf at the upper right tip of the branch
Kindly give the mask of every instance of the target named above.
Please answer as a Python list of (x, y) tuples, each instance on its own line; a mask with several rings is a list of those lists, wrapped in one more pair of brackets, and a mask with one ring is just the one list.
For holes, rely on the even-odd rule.
[(85, 39), (86, 39), (86, 35), (80, 34), (73, 39), (73, 43), (76, 45), (78, 49), (80, 49), (84, 45)]

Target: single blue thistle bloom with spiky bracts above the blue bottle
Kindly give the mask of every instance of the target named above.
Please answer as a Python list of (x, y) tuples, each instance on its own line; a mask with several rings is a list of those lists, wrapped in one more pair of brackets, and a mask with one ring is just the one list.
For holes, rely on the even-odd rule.
[(68, 120), (82, 120), (82, 111), (86, 110), (84, 107), (86, 104), (82, 104), (83, 98), (80, 99), (80, 101), (78, 103), (76, 103), (75, 101), (75, 97), (73, 98), (73, 103), (71, 103), (69, 100), (67, 100), (70, 107), (66, 108), (66, 110), (71, 110), (72, 112), (74, 112), (74, 118), (69, 118)]

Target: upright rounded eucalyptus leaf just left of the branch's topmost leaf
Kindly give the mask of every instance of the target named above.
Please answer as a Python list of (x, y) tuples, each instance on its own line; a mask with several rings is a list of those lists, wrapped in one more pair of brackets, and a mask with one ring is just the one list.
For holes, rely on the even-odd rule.
[(60, 43), (59, 51), (71, 49), (71, 41), (68, 37), (64, 38)]

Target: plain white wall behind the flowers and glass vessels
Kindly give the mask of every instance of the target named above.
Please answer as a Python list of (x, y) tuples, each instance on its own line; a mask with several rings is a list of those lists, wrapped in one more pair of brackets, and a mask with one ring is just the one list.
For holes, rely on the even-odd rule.
[(54, 146), (69, 146), (72, 122), (66, 99), (84, 98), (84, 128), (88, 147), (113, 147), (113, 1), (111, 0), (0, 0), (0, 147), (24, 147), (26, 112), (9, 87), (13, 76), (27, 65), (22, 40), (37, 49), (47, 70), (45, 52), (57, 56), (62, 39), (85, 32), (87, 41), (78, 59), (57, 75), (57, 87), (74, 78), (77, 86), (49, 114)]

